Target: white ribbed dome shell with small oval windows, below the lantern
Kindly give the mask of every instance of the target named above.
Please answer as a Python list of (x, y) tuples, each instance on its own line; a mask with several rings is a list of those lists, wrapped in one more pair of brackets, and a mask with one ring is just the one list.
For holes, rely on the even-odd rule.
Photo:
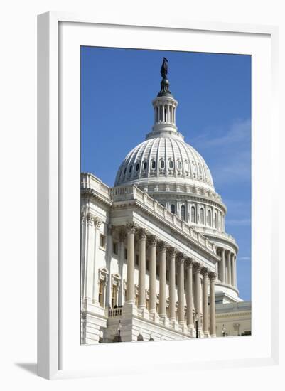
[(158, 136), (132, 149), (119, 167), (115, 186), (140, 182), (189, 184), (214, 190), (202, 156), (181, 137)]

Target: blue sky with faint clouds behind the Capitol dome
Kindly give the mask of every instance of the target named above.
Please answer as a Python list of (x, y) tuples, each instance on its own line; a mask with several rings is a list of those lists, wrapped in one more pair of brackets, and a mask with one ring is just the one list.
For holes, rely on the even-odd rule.
[(81, 171), (114, 185), (124, 156), (151, 131), (163, 56), (176, 123), (208, 164), (237, 240), (237, 284), (251, 299), (251, 58), (248, 55), (81, 48)]

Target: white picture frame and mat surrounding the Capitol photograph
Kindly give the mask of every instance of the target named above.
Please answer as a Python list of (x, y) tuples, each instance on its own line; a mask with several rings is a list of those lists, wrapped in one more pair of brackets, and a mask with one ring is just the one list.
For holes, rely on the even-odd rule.
[[(97, 28), (104, 30), (104, 34), (95, 31), (94, 36), (89, 29)], [(117, 33), (114, 35), (114, 29)], [(107, 33), (109, 31), (109, 33)], [(132, 34), (129, 34), (129, 31)], [(254, 275), (254, 257), (252, 264), (253, 299), (252, 299), (252, 323), (255, 335), (247, 341), (237, 341), (235, 338), (224, 338), (209, 341), (173, 341), (148, 344), (124, 344), (124, 352), (120, 344), (106, 344), (106, 346), (80, 346), (79, 334), (76, 340), (77, 326), (79, 325), (79, 290), (71, 291), (70, 282), (76, 281), (77, 269), (70, 268), (66, 276), (63, 254), (65, 252), (66, 230), (66, 208), (70, 210), (70, 220), (75, 217), (78, 210), (73, 210), (72, 205), (77, 205), (79, 188), (76, 187), (79, 167), (78, 159), (72, 163), (70, 156), (73, 151), (79, 148), (78, 141), (78, 110), (77, 102), (79, 96), (79, 81), (74, 85), (68, 83), (70, 88), (70, 99), (63, 101), (66, 96), (64, 91), (67, 82), (72, 80), (77, 73), (77, 60), (70, 69), (64, 68), (61, 61), (64, 56), (78, 55), (78, 45), (112, 45), (119, 47), (134, 46), (134, 33), (144, 32), (144, 41), (137, 36), (139, 48), (151, 36), (158, 33), (169, 38), (168, 43), (157, 43), (155, 39), (152, 48), (178, 49), (178, 43), (172, 40), (174, 34), (181, 35), (180, 50), (203, 51), (209, 45), (207, 37), (211, 37), (213, 50), (216, 53), (244, 53), (253, 56), (253, 127), (254, 136), (254, 161), (253, 164), (253, 198), (257, 200), (259, 188), (259, 175), (262, 171), (272, 173), (275, 185), (278, 173), (274, 171), (276, 155), (274, 150), (278, 144), (278, 122), (276, 112), (276, 77), (277, 77), (277, 40), (278, 30), (274, 26), (250, 26), (236, 25), (230, 23), (200, 23), (195, 21), (139, 21), (118, 18), (118, 20), (105, 21), (100, 18), (93, 18), (86, 15), (75, 15), (58, 12), (50, 12), (38, 16), (38, 375), (48, 378), (63, 377), (84, 377), (84, 376), (104, 376), (108, 375), (107, 363), (112, 366), (114, 374), (144, 373), (147, 370), (161, 370), (163, 366), (171, 363), (171, 368), (175, 370), (189, 370), (189, 368), (217, 368), (221, 365), (227, 366), (231, 363), (235, 367), (251, 365), (275, 365), (278, 363), (278, 301), (273, 298), (278, 296), (278, 283), (276, 272), (278, 270), (278, 247), (276, 245), (277, 226), (272, 223), (271, 207), (274, 203), (270, 188), (263, 192), (259, 203), (253, 205), (252, 225), (253, 238), (256, 235), (254, 227), (259, 227), (260, 223), (266, 223), (262, 232), (259, 232), (259, 243), (262, 248), (254, 248), (255, 258), (260, 260), (259, 264), (265, 265), (267, 260), (270, 263), (267, 270), (263, 270), (259, 275)], [(185, 47), (187, 34), (191, 33), (193, 42), (189, 48)], [(122, 34), (122, 36), (120, 36)], [(229, 38), (230, 36), (230, 38)], [(97, 43), (96, 37), (100, 38)], [(184, 38), (183, 38), (184, 37)], [(202, 37), (202, 38), (199, 38)], [(205, 40), (205, 37), (207, 38)], [(222, 38), (223, 42), (219, 42)], [(259, 39), (260, 38), (260, 39)], [(184, 41), (183, 41), (184, 39)], [(125, 40), (125, 41), (124, 41)], [(129, 40), (129, 45), (128, 45)], [(203, 41), (204, 40), (204, 41)], [(253, 42), (255, 40), (255, 42)], [(123, 43), (124, 41), (124, 43)], [(252, 42), (249, 42), (252, 41)], [(93, 43), (92, 43), (93, 42)], [(174, 43), (173, 43), (174, 42)], [(205, 45), (204, 45), (204, 43)], [(239, 43), (240, 42), (240, 43)], [(247, 44), (248, 42), (248, 44)], [(183, 46), (184, 45), (184, 46)], [(220, 45), (220, 49), (217, 46)], [(148, 48), (151, 48), (147, 46)], [(239, 47), (239, 49), (237, 49)], [(264, 49), (265, 48), (265, 49)], [(264, 64), (256, 67), (254, 56), (259, 61), (263, 58)], [(263, 57), (262, 57), (263, 56)], [(66, 57), (68, 58), (68, 57)], [(74, 59), (74, 57), (73, 57)], [(73, 61), (70, 64), (73, 64)], [(77, 64), (77, 65), (76, 65)], [(72, 69), (71, 69), (72, 68)], [(260, 71), (260, 73), (259, 73)], [(257, 83), (261, 77), (261, 85)], [(264, 92), (268, 96), (264, 96)], [(66, 102), (66, 103), (65, 103)], [(67, 106), (65, 106), (67, 105)], [(70, 119), (67, 124), (66, 110), (70, 110)], [(73, 110), (74, 109), (74, 110)], [(61, 112), (62, 111), (62, 112)], [(64, 114), (65, 113), (65, 114)], [(258, 114), (260, 114), (260, 116)], [(75, 117), (72, 117), (75, 116)], [(72, 118), (71, 118), (72, 117)], [(70, 138), (67, 140), (65, 132), (61, 129), (69, 126)], [(77, 127), (77, 128), (76, 128)], [(257, 129), (264, 135), (264, 127), (270, 128), (269, 141), (257, 136)], [(262, 150), (267, 145), (269, 159), (266, 163), (262, 161)], [(78, 152), (78, 151), (77, 151)], [(76, 155), (77, 156), (77, 155)], [(77, 156), (78, 157), (78, 156)], [(68, 167), (68, 168), (67, 168)], [(75, 176), (72, 178), (72, 176)], [(68, 179), (68, 181), (67, 181)], [(69, 186), (71, 186), (69, 188)], [(73, 187), (72, 187), (73, 186)], [(68, 189), (68, 190), (66, 190)], [(72, 191), (73, 189), (73, 191)], [(75, 192), (74, 192), (75, 189)], [(64, 193), (75, 194), (63, 205)], [(259, 198), (260, 198), (259, 197)], [(268, 209), (261, 215), (261, 205), (268, 205)], [(65, 204), (65, 203), (64, 203)], [(72, 230), (72, 228), (70, 228)], [(76, 241), (76, 229), (70, 231), (70, 237)], [(270, 237), (270, 240), (268, 239)], [(255, 237), (256, 242), (257, 237)], [(79, 240), (79, 238), (78, 238)], [(72, 242), (72, 240), (71, 240)], [(260, 246), (259, 246), (260, 247)], [(65, 252), (66, 253), (66, 252)], [(78, 260), (79, 267), (79, 260)], [(72, 271), (72, 270), (73, 271)], [(259, 297), (254, 296), (254, 292), (261, 291), (264, 282), (269, 284), (262, 291), (262, 300), (266, 306), (266, 314), (262, 308)], [(79, 284), (79, 277), (78, 277)], [(68, 290), (69, 289), (69, 290)], [(66, 301), (66, 297), (70, 301)], [(70, 304), (71, 303), (71, 304)], [(68, 305), (67, 305), (68, 304)], [(76, 311), (78, 319), (76, 323)], [(259, 325), (257, 327), (256, 325)], [(183, 347), (185, 343), (192, 343), (194, 358), (184, 355)], [(208, 345), (206, 346), (205, 343)], [(246, 343), (247, 351), (244, 350)], [(77, 345), (77, 348), (75, 347)], [(99, 350), (100, 349), (100, 350)], [(206, 350), (207, 349), (207, 350)], [(168, 357), (169, 351), (175, 352), (173, 359)], [(228, 351), (232, 355), (227, 355)], [(207, 357), (205, 357), (207, 351)], [(90, 353), (91, 352), (91, 353)], [(216, 352), (216, 354), (215, 354)], [(100, 360), (96, 360), (100, 353)], [(110, 357), (113, 354), (124, 355), (124, 365), (112, 362)], [(141, 363), (146, 357), (161, 356), (160, 362), (151, 362), (150, 368), (142, 368)], [(132, 357), (136, 355), (136, 360)], [(222, 359), (225, 357), (225, 359)], [(129, 361), (128, 361), (129, 360)], [(95, 363), (96, 361), (96, 363)], [(65, 363), (68, 363), (65, 365)], [(92, 363), (92, 365), (86, 365)], [(127, 364), (126, 364), (127, 363)], [(104, 369), (105, 367), (105, 369)], [(169, 370), (169, 367), (168, 367)]]

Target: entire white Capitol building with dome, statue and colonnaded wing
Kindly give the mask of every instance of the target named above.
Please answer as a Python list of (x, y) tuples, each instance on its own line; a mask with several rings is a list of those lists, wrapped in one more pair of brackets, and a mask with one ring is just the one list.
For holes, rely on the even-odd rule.
[(232, 314), (250, 330), (227, 208), (178, 132), (166, 61), (154, 126), (114, 187), (81, 175), (81, 343), (213, 338)]

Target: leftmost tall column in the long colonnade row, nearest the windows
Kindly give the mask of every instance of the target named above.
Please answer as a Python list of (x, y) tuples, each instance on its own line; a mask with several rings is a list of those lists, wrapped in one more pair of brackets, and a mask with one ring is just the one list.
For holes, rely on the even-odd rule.
[(127, 303), (134, 304), (134, 232), (136, 225), (127, 224)]

